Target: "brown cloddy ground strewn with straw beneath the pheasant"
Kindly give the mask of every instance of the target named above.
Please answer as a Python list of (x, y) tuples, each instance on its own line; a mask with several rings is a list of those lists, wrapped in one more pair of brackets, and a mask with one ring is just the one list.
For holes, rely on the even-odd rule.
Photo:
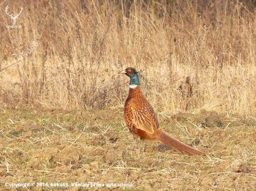
[[(1, 190), (256, 189), (255, 116), (202, 110), (158, 119), (168, 134), (209, 156), (181, 155), (157, 140), (145, 141), (141, 153), (138, 141), (131, 151), (122, 108), (2, 108)], [(30, 185), (9, 187), (18, 183)]]

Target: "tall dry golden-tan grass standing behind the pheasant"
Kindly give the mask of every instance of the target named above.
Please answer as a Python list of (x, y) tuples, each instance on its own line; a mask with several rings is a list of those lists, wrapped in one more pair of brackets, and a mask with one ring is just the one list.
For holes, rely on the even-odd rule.
[[(131, 66), (157, 111), (256, 110), (256, 20), (249, 1), (0, 5), (0, 105), (121, 106), (128, 78), (119, 73)], [(22, 28), (6, 28), (7, 5), (11, 13), (23, 7), (16, 22)], [(15, 64), (33, 42), (35, 50)]]

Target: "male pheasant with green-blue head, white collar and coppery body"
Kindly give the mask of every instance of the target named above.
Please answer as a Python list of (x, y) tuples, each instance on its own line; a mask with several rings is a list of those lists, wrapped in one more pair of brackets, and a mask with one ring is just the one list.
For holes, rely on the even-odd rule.
[(124, 104), (124, 118), (135, 139), (132, 150), (140, 136), (142, 143), (143, 140), (158, 139), (181, 154), (207, 154), (183, 144), (158, 129), (159, 124), (154, 109), (141, 92), (138, 72), (134, 68), (127, 68), (121, 74), (130, 77), (129, 93)]

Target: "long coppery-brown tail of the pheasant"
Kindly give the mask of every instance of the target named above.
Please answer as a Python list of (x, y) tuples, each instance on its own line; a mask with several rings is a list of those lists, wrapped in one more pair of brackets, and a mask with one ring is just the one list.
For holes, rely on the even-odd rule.
[(202, 151), (198, 151), (195, 148), (192, 148), (188, 145), (185, 145), (184, 143), (180, 142), (179, 140), (176, 140), (175, 138), (172, 138), (170, 135), (164, 133), (162, 130), (157, 129), (155, 131), (155, 137), (162, 141), (164, 144), (167, 146), (171, 147), (175, 151), (181, 154), (188, 154), (188, 155), (193, 155), (193, 154), (204, 154), (206, 155), (207, 153), (204, 153)]

